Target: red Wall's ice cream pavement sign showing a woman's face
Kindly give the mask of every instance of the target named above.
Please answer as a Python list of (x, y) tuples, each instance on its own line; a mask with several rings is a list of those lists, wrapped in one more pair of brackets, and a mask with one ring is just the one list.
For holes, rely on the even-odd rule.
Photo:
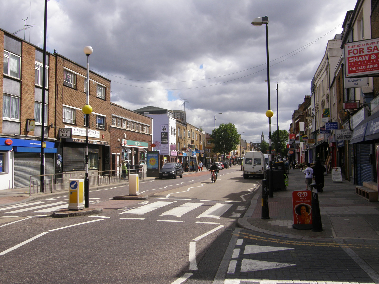
[(312, 191), (294, 190), (292, 192), (293, 223), (312, 224)]

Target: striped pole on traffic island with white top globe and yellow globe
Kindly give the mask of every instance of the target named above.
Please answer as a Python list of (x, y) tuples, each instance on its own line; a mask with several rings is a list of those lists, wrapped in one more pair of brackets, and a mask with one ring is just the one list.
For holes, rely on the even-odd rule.
[(89, 105), (89, 56), (92, 54), (92, 47), (87, 45), (84, 48), (84, 53), (87, 56), (87, 81), (86, 81), (86, 87), (87, 87), (87, 95), (86, 95), (86, 105), (83, 106), (83, 113), (85, 114), (85, 122), (86, 122), (86, 164), (85, 164), (85, 178), (84, 178), (84, 207), (89, 207), (89, 180), (88, 180), (88, 125), (89, 125), (89, 115), (92, 112), (92, 107)]

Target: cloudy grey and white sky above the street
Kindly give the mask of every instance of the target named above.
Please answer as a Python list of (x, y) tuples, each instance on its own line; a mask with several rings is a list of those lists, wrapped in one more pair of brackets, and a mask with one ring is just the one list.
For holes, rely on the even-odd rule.
[[(245, 140), (268, 142), (265, 26), (270, 80), (278, 81), (279, 128), (310, 95), (327, 44), (341, 33), (356, 0), (50, 0), (47, 51), (110, 79), (111, 100), (128, 109), (184, 109), (187, 122), (211, 133), (233, 123)], [(42, 47), (44, 0), (0, 0), (0, 28)], [(24, 30), (17, 36), (24, 38)], [(271, 82), (272, 131), (276, 82)], [(185, 102), (185, 104), (183, 104)]]

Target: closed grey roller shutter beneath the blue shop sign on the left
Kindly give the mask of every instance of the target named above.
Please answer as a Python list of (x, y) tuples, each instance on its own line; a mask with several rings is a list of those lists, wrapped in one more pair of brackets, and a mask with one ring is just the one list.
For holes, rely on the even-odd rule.
[[(45, 174), (54, 173), (54, 153), (45, 153)], [(14, 152), (14, 188), (29, 187), (29, 176), (41, 174), (41, 153)]]

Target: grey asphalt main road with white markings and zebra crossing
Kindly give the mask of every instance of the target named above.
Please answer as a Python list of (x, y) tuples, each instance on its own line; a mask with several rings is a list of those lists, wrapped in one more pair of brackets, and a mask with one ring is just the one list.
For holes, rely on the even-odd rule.
[(50, 217), (67, 196), (0, 208), (0, 279), (176, 284), (196, 275), (212, 283), (256, 189), (232, 168), (215, 184), (206, 171), (141, 182), (146, 201), (113, 200), (127, 186), (91, 191), (90, 207), (103, 208), (96, 216)]

